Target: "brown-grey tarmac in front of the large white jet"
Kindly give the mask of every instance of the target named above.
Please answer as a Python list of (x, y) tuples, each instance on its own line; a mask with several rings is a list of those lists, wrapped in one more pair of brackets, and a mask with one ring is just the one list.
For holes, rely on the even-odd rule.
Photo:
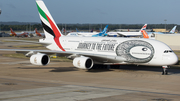
[[(0, 48), (13, 48), (4, 43)], [(12, 47), (8, 47), (11, 45)], [(0, 101), (179, 101), (180, 69), (120, 66), (80, 70), (71, 62), (34, 66), (0, 52)]]

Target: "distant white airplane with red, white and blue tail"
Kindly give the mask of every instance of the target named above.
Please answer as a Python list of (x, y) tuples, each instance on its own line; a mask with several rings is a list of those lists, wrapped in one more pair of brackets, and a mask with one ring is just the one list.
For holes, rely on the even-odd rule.
[(145, 30), (147, 27), (147, 24), (145, 24), (139, 32), (108, 32), (108, 36), (110, 37), (141, 37), (142, 36), (142, 30)]

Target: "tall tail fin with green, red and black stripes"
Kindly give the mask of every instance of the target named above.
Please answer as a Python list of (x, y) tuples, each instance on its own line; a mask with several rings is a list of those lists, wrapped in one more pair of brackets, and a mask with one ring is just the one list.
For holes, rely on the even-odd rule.
[(62, 36), (54, 19), (49, 13), (46, 5), (42, 0), (36, 0), (36, 5), (39, 11), (39, 16), (43, 25), (43, 30), (46, 38), (59, 38)]

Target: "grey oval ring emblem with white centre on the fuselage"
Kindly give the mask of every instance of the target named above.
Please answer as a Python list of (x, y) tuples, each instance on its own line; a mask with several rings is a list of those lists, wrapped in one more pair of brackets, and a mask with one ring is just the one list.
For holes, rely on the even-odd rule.
[(153, 46), (142, 40), (129, 40), (116, 48), (117, 56), (122, 56), (129, 63), (149, 62), (154, 56)]

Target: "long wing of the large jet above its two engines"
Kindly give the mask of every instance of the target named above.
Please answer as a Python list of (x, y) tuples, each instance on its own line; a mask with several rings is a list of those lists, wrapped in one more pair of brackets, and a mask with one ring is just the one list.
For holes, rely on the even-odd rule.
[[(78, 56), (87, 56), (94, 60), (96, 63), (117, 63), (117, 61), (124, 62), (126, 59), (120, 56), (109, 56), (101, 54), (83, 53), (83, 52), (71, 52), (71, 51), (55, 51), (55, 50), (28, 50), (28, 49), (0, 49), (0, 51), (15, 51), (17, 53), (23, 53), (25, 56), (31, 56), (36, 53), (44, 53), (47, 55), (57, 54), (57, 56), (67, 56), (68, 58), (75, 58)], [(117, 60), (117, 61), (116, 61)]]

